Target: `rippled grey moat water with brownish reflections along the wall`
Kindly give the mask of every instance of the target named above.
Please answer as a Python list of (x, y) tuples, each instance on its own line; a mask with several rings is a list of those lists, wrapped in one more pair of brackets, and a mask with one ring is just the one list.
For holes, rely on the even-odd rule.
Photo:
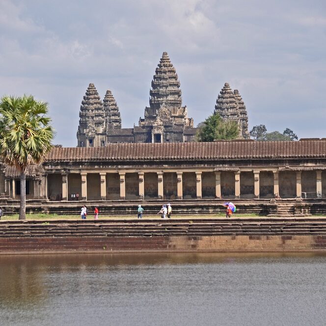
[(323, 254), (0, 256), (0, 325), (325, 325)]

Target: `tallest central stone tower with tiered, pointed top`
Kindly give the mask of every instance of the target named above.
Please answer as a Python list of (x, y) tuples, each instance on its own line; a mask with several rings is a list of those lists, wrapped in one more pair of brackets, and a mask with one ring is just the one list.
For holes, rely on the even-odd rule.
[(153, 126), (151, 137), (145, 141), (184, 141), (184, 129), (193, 128), (193, 120), (188, 118), (187, 107), (182, 107), (180, 81), (166, 52), (155, 70), (149, 95), (149, 107), (144, 119), (139, 120), (139, 127)]

